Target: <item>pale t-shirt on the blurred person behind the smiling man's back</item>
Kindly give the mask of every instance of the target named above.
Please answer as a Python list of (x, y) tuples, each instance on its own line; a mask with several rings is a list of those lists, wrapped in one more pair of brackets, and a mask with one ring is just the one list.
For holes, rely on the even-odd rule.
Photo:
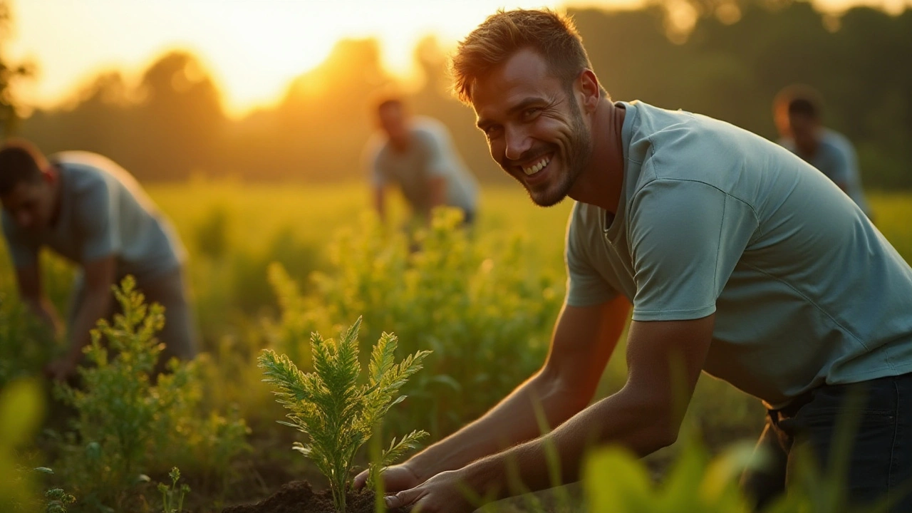
[(858, 158), (855, 156), (855, 148), (848, 139), (845, 139), (844, 135), (823, 129), (814, 155), (803, 155), (798, 152), (791, 138), (782, 139), (779, 143), (820, 170), (830, 180), (841, 183), (845, 187), (845, 194), (855, 201), (865, 215), (871, 216), (871, 209), (865, 201), (865, 191), (861, 186), (861, 173), (858, 173)]

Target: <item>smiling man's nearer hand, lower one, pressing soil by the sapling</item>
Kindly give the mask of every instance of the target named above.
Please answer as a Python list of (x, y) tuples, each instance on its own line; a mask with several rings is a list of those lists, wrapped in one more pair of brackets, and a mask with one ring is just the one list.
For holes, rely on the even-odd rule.
[(408, 507), (420, 513), (471, 513), (459, 470), (440, 472), (418, 487), (386, 497), (387, 508)]

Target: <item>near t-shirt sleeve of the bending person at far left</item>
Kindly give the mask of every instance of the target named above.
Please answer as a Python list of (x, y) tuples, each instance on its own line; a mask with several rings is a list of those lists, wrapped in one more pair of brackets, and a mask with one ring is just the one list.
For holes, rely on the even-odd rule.
[(82, 234), (82, 261), (119, 255), (122, 247), (119, 230), (119, 190), (107, 182), (98, 182), (79, 194), (75, 202), (75, 220)]

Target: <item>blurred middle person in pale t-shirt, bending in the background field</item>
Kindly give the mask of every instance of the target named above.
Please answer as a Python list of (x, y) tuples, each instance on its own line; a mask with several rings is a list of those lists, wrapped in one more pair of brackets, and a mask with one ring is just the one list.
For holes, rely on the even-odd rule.
[(402, 99), (378, 102), (380, 131), (368, 144), (368, 166), (374, 207), (386, 215), (386, 193), (398, 185), (412, 213), (430, 217), (436, 206), (460, 208), (472, 225), (478, 206), (478, 183), (462, 162), (450, 132), (438, 120), (409, 116)]

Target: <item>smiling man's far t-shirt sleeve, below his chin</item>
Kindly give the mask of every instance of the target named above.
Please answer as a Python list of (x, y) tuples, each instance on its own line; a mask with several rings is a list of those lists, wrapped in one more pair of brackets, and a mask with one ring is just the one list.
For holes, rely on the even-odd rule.
[(571, 307), (589, 307), (614, 298), (617, 291), (598, 274), (589, 257), (591, 253), (587, 251), (587, 244), (596, 241), (586, 240), (586, 229), (578, 219), (578, 208), (578, 204), (574, 206), (567, 222), (564, 252), (567, 271), (566, 304)]

